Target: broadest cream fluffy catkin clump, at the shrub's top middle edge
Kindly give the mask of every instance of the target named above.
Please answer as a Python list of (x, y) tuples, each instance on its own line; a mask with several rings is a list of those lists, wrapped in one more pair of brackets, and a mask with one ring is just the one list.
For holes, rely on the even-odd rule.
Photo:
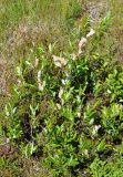
[(55, 55), (52, 55), (53, 58), (53, 62), (54, 64), (58, 66), (58, 67), (62, 67), (64, 65), (66, 65), (66, 59), (64, 58), (60, 58), (60, 56), (55, 56)]

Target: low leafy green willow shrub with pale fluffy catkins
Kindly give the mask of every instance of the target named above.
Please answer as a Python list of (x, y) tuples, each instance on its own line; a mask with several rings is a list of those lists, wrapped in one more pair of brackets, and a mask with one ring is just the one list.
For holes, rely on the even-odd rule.
[(53, 176), (88, 176), (94, 158), (122, 154), (123, 66), (99, 52), (101, 37), (96, 32), (76, 60), (60, 53), (62, 67), (51, 44), (17, 67), (6, 134), (23, 156), (42, 157)]

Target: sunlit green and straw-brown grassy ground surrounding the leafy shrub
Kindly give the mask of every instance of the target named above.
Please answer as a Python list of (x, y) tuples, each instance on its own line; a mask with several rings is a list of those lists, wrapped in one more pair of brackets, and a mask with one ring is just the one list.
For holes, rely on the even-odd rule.
[[(69, 41), (78, 43), (74, 38), (83, 35), (88, 27), (95, 27), (107, 11), (112, 14), (112, 22), (99, 51), (109, 51), (115, 60), (123, 61), (122, 0), (1, 0), (0, 9), (1, 111), (10, 96), (12, 83), (16, 83), (14, 69), (22, 60), (32, 58), (31, 50), (34, 51), (41, 44), (48, 49), (50, 43), (54, 43), (55, 54), (68, 51)], [(2, 112), (0, 117), (2, 127), (6, 124)], [(4, 135), (1, 135), (1, 144), (6, 140)], [(52, 176), (41, 167), (39, 159), (25, 159), (18, 155), (17, 146), (12, 146), (10, 152), (0, 158), (1, 177)]]

